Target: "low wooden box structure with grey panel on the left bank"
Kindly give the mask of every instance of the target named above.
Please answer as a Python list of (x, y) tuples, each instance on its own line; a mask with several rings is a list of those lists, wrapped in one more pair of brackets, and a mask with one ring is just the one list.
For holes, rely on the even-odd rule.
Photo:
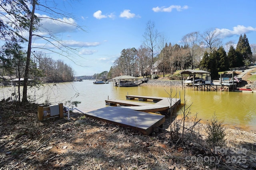
[(44, 107), (44, 105), (39, 105), (37, 109), (38, 121), (43, 121), (46, 118), (50, 117), (60, 117), (63, 118), (63, 103), (58, 105), (51, 105)]

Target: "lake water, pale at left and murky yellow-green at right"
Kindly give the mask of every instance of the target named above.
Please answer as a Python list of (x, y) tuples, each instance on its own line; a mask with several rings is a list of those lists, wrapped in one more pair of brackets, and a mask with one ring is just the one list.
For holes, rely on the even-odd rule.
[[(32, 89), (28, 89), (28, 94), (30, 100), (36, 101), (36, 103), (48, 101), (51, 104), (64, 103), (65, 106), (68, 106), (65, 104), (66, 101), (80, 101), (77, 108), (88, 112), (106, 107), (106, 99), (126, 100), (127, 94), (170, 97), (171, 92), (169, 87), (115, 87), (111, 82), (97, 85), (92, 82), (84, 80), (70, 83), (50, 83), (40, 89), (32, 87)], [(1, 87), (0, 99), (7, 99), (14, 91), (18, 92), (15, 87)], [(198, 113), (198, 117), (203, 121), (211, 119), (212, 115), (216, 113), (218, 120), (224, 121), (224, 124), (230, 127), (256, 130), (256, 93), (173, 88), (172, 97), (180, 97), (181, 103), (186, 101), (186, 105), (191, 105), (192, 115)]]

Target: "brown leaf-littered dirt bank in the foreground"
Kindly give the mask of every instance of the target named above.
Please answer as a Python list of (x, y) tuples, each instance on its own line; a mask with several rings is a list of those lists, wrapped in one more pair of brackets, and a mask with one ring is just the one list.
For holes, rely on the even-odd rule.
[(39, 122), (37, 105), (1, 101), (0, 170), (256, 169), (256, 132), (226, 129), (226, 146), (214, 149), (204, 124), (183, 143), (169, 127), (166, 117), (164, 130), (144, 136), (79, 113)]

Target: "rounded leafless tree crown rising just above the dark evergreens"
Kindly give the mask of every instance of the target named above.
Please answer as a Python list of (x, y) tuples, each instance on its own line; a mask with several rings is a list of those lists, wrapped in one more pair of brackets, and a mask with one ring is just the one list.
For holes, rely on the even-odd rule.
[(222, 42), (219, 35), (220, 32), (213, 28), (206, 30), (203, 34), (201, 34), (202, 43), (210, 49), (210, 52), (212, 52), (214, 49), (217, 50), (221, 45)]

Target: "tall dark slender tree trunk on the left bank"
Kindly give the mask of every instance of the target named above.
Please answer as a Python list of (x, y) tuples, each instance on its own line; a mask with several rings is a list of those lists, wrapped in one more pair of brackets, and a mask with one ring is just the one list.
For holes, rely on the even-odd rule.
[(28, 97), (27, 97), (28, 75), (29, 75), (29, 66), (30, 66), (31, 43), (32, 43), (32, 32), (33, 32), (33, 26), (34, 26), (34, 14), (35, 14), (36, 0), (33, 0), (32, 5), (33, 6), (32, 6), (31, 21), (30, 21), (30, 28), (29, 28), (28, 53), (27, 53), (27, 61), (26, 61), (26, 68), (25, 68), (25, 75), (24, 75), (22, 103), (28, 102)]

